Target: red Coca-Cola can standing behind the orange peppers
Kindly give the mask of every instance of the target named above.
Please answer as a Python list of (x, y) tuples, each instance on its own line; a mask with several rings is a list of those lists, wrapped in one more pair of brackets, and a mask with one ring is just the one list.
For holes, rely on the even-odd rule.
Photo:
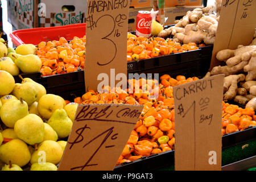
[(136, 35), (151, 36), (152, 16), (150, 11), (139, 11), (136, 20)]

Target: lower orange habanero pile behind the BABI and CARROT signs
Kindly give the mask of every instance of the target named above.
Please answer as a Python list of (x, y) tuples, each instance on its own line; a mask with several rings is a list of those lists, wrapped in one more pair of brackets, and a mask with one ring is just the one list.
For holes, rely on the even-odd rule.
[[(143, 105), (143, 110), (139, 121), (131, 132), (130, 138), (123, 149), (122, 155), (119, 157), (117, 164), (131, 162), (142, 156), (150, 156), (160, 152), (173, 150), (175, 144), (175, 118), (174, 118), (174, 97), (173, 87), (191, 81), (199, 80), (197, 77), (185, 78), (170, 75), (160, 77), (158, 87), (154, 85), (158, 80), (146, 80), (143, 84), (143, 78), (138, 82), (128, 80), (129, 88), (122, 90), (121, 88), (111, 89), (105, 86), (102, 90), (106, 92), (94, 92), (89, 90), (82, 97), (76, 97), (74, 102), (79, 104), (131, 104)], [(139, 90), (135, 88), (139, 87)], [(133, 93), (130, 93), (131, 89)], [(154, 92), (158, 92), (158, 98), (149, 98)], [(255, 113), (252, 108), (242, 109), (236, 105), (229, 105), (223, 102), (223, 121), (222, 134), (237, 131), (233, 129), (231, 122), (236, 118), (236, 127), (238, 130), (246, 129), (249, 126), (256, 126)], [(238, 120), (239, 121), (238, 121)]]

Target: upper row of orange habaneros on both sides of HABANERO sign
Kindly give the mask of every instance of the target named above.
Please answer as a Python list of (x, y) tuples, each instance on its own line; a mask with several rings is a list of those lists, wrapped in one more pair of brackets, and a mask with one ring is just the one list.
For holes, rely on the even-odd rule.
[[(68, 42), (61, 37), (59, 40), (40, 42), (36, 55), (42, 61), (40, 73), (42, 76), (63, 74), (84, 69), (85, 36), (76, 36)], [(205, 46), (200, 44), (199, 47)], [(172, 39), (144, 38), (128, 33), (127, 61), (137, 61), (151, 57), (170, 55), (171, 53), (186, 52), (199, 49), (195, 43), (176, 43)]]

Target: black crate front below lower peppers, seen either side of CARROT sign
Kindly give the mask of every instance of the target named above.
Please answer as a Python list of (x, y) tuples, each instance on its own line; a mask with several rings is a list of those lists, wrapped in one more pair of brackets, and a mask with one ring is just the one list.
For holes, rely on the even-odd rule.
[[(222, 149), (253, 139), (256, 139), (256, 126), (222, 136)], [(120, 164), (114, 168), (114, 171), (154, 170), (170, 165), (174, 165), (174, 150)]]

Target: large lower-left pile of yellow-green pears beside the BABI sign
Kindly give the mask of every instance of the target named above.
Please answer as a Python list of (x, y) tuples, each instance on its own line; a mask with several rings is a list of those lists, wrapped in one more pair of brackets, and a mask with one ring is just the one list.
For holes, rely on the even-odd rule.
[[(22, 78), (22, 77), (20, 77)], [(0, 71), (0, 169), (54, 171), (72, 130), (77, 104), (43, 85)]]

